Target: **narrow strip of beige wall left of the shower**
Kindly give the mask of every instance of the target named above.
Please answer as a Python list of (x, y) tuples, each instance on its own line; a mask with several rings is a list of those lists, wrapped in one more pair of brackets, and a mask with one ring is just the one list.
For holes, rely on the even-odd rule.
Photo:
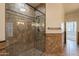
[(5, 4), (0, 3), (0, 41), (5, 40)]

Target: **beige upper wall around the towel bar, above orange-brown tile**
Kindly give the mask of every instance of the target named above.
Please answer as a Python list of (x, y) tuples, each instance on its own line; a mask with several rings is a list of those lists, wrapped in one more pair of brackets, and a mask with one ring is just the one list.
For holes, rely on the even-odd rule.
[(48, 30), (51, 28), (60, 28), (64, 21), (64, 8), (62, 4), (46, 4), (46, 33), (61, 33), (61, 30)]

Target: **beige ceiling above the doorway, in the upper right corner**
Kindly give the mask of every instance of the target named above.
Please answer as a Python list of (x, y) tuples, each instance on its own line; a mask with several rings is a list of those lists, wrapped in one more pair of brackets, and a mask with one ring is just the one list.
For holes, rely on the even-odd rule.
[(65, 4), (63, 4), (63, 7), (64, 7), (65, 13), (73, 12), (73, 11), (79, 9), (79, 3), (65, 3)]

